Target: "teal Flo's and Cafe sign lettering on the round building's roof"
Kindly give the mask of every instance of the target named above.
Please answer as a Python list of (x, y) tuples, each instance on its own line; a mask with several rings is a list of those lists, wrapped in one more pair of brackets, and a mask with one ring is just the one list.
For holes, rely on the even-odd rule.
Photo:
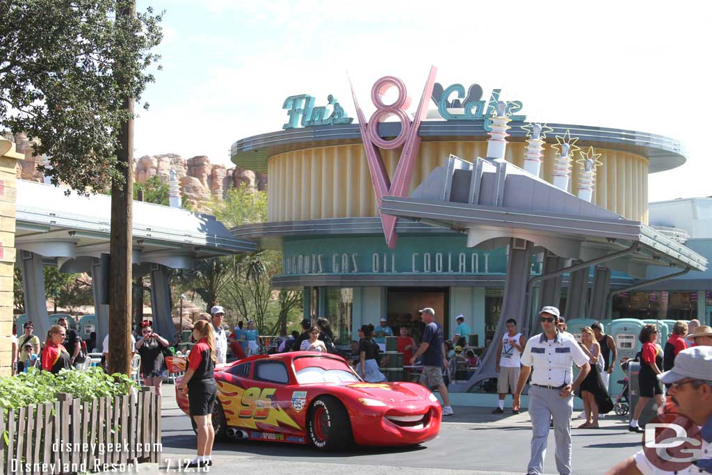
[[(493, 89), (489, 101), (482, 100), (482, 88), (478, 84), (471, 85), (467, 94), (461, 84), (452, 84), (443, 88), (435, 83), (431, 99), (438, 106), (438, 113), (445, 120), (484, 120), (484, 129), (490, 131), (489, 119), (496, 115), (496, 106), (500, 100), (501, 89)], [(288, 122), (283, 129), (298, 127), (313, 127), (315, 125), (350, 124), (353, 118), (333, 95), (327, 98), (327, 105), (315, 106), (315, 98), (307, 94), (290, 95), (284, 100), (283, 109), (287, 110)], [(505, 115), (512, 122), (524, 122), (526, 115), (518, 115), (523, 104), (520, 100), (507, 102)]]

